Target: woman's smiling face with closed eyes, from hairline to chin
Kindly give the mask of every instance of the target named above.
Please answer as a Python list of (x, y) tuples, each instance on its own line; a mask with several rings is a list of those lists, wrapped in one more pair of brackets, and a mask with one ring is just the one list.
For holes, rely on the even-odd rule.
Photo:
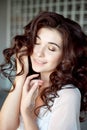
[(30, 56), (32, 68), (39, 73), (51, 73), (62, 58), (62, 36), (56, 29), (41, 28)]

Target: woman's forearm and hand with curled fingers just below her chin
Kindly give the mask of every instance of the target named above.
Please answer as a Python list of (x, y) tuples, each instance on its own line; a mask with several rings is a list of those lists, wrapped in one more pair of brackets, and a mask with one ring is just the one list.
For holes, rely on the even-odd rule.
[(33, 111), (39, 86), (43, 83), (42, 80), (35, 79), (38, 76), (38, 74), (28, 76), (23, 86), (20, 109), (25, 130), (39, 130)]

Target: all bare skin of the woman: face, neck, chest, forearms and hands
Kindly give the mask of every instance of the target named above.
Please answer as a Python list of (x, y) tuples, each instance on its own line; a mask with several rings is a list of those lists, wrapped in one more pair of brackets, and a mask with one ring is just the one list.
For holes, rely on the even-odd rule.
[[(20, 114), (25, 130), (39, 130), (33, 109), (43, 104), (39, 96), (41, 89), (50, 85), (49, 75), (61, 61), (62, 38), (56, 30), (46, 28), (39, 30), (38, 38), (31, 55), (31, 62), (33, 70), (40, 73), (41, 80), (33, 79), (38, 76), (37, 74), (26, 77), (29, 72), (28, 57), (23, 56), (24, 74), (15, 78), (15, 90), (9, 93), (1, 109), (0, 130), (16, 130), (19, 126)], [(20, 69), (17, 59), (17, 73)]]

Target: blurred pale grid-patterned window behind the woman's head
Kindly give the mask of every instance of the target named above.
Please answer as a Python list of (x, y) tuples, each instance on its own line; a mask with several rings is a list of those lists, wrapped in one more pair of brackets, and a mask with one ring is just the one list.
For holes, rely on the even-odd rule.
[(87, 0), (10, 0), (13, 37), (40, 11), (55, 11), (77, 21), (87, 33)]

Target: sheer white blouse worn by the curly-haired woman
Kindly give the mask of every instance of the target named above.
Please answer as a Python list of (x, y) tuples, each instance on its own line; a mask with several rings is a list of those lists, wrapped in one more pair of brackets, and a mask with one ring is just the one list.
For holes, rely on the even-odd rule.
[[(51, 111), (45, 107), (40, 109), (37, 125), (39, 130), (80, 130), (80, 102), (81, 94), (73, 85), (65, 85), (58, 91)], [(17, 130), (24, 130), (22, 119)]]

